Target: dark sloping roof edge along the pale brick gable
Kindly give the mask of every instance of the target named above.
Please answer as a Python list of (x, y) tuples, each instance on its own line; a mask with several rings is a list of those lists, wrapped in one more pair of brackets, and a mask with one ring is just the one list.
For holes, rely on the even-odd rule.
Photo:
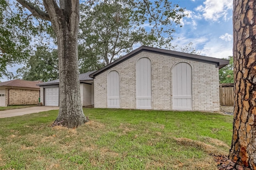
[(178, 51), (141, 46), (138, 49), (136, 49), (136, 50), (126, 54), (125, 56), (117, 59), (116, 61), (104, 66), (100, 70), (98, 70), (96, 72), (93, 72), (89, 76), (93, 78), (94, 76), (104, 72), (105, 70), (107, 70), (109, 68), (112, 68), (112, 67), (116, 66), (117, 64), (120, 64), (120, 63), (126, 61), (127, 59), (130, 59), (131, 57), (133, 57), (134, 55), (137, 55), (138, 53), (141, 53), (142, 51), (146, 51), (146, 52), (149, 52), (149, 53), (167, 55), (167, 56), (170, 56), (170, 57), (177, 57), (177, 58), (181, 58), (181, 59), (188, 59), (188, 60), (192, 60), (192, 61), (199, 61), (199, 62), (202, 62), (202, 63), (215, 64), (216, 67), (218, 67), (219, 69), (226, 66), (227, 64), (229, 64), (229, 61), (225, 60), (225, 59), (217, 59), (217, 58), (214, 58), (214, 57), (206, 57), (206, 56), (202, 56), (202, 55), (194, 55), (194, 54), (182, 53), (182, 52), (178, 52)]

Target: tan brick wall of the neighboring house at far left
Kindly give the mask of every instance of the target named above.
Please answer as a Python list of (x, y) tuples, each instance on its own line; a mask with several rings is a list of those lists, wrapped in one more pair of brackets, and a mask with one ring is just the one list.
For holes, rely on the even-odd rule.
[(9, 105), (37, 104), (38, 98), (39, 90), (12, 88), (9, 91)]

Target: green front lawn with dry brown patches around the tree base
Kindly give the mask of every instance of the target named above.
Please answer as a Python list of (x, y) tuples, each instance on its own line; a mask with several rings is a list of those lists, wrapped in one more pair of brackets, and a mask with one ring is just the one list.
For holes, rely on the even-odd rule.
[(0, 119), (0, 169), (217, 169), (232, 116), (85, 108), (90, 122), (51, 127), (58, 110)]

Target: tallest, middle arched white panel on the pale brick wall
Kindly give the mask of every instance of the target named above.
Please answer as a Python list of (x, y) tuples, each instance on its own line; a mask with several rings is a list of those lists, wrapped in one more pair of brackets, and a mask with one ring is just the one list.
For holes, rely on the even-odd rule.
[(136, 63), (137, 109), (151, 109), (151, 61), (144, 57)]

